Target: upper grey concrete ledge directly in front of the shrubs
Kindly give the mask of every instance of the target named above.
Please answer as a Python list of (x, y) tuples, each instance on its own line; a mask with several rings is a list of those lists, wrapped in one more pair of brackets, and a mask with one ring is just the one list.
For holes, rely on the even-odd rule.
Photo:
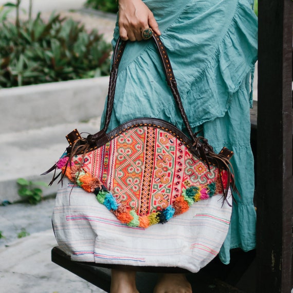
[(0, 134), (98, 117), (108, 81), (99, 77), (0, 89)]

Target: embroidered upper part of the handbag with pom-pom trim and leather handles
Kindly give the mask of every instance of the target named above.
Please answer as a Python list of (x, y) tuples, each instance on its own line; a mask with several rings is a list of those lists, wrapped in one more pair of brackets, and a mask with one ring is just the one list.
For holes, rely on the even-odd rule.
[[(52, 184), (60, 175), (68, 177), (89, 196), (131, 227), (164, 224), (184, 213), (198, 200), (215, 194), (226, 199), (236, 190), (229, 159), (233, 152), (223, 148), (215, 154), (208, 140), (193, 133), (173, 74), (167, 50), (157, 34), (152, 35), (167, 83), (185, 123), (185, 135), (161, 119), (127, 121), (107, 133), (125, 41), (117, 41), (109, 78), (104, 127), (82, 137), (74, 130), (66, 138), (69, 147), (54, 166)], [(57, 169), (61, 172), (56, 175)], [(59, 182), (60, 182), (59, 181)]]

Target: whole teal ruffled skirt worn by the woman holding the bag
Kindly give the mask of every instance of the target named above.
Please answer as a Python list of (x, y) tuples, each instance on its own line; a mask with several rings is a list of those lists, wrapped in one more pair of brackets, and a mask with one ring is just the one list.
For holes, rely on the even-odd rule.
[[(219, 253), (222, 262), (229, 263), (231, 248), (255, 247), (249, 108), (251, 73), (257, 60), (257, 17), (248, 0), (144, 3), (162, 32), (194, 132), (203, 130), (215, 152), (224, 146), (234, 152), (231, 162), (241, 197), (234, 195), (229, 232)], [(118, 35), (117, 25), (113, 45)], [(109, 130), (140, 117), (164, 119), (185, 132), (151, 40), (129, 42), (125, 48)]]

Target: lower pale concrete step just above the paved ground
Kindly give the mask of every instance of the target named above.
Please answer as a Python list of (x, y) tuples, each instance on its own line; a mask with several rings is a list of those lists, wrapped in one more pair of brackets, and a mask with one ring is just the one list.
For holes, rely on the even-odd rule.
[[(68, 147), (65, 136), (77, 128), (79, 132), (94, 134), (99, 131), (100, 117), (86, 123), (72, 122), (41, 129), (0, 134), (0, 204), (3, 200), (16, 202), (21, 197), (17, 194), (18, 178), (49, 183), (52, 173), (40, 176), (59, 159)], [(42, 188), (43, 195), (57, 192), (57, 182), (52, 187)]]

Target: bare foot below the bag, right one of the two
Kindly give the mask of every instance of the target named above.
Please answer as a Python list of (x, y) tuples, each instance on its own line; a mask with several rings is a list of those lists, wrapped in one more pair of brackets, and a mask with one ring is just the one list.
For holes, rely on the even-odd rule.
[(190, 283), (183, 273), (162, 274), (154, 293), (192, 293)]

